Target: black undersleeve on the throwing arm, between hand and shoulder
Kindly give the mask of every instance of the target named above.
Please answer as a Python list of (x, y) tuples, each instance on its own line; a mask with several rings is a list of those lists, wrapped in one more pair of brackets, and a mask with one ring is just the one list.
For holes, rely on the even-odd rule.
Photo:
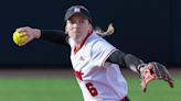
[(68, 35), (61, 30), (41, 30), (41, 40), (49, 41), (54, 44), (70, 46), (67, 44)]

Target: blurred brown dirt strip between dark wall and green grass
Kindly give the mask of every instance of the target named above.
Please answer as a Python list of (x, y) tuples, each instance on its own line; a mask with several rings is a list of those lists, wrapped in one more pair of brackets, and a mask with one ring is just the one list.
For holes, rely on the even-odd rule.
[[(169, 68), (172, 75), (181, 76), (181, 68)], [(123, 69), (126, 76), (136, 76), (129, 69)], [(0, 69), (0, 78), (3, 77), (74, 77), (72, 69)]]

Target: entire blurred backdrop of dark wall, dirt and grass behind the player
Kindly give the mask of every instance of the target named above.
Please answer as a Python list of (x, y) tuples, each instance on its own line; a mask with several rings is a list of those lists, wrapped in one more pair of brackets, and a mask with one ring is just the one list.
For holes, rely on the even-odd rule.
[(117, 48), (145, 61), (160, 61), (173, 74), (175, 89), (155, 82), (143, 94), (139, 78), (124, 70), (132, 101), (181, 99), (180, 0), (3, 0), (0, 1), (0, 101), (82, 99), (71, 70), (70, 48), (43, 41), (18, 47), (12, 42), (12, 33), (20, 26), (64, 30), (65, 11), (77, 3), (87, 5), (95, 24), (104, 30), (113, 22), (116, 32), (106, 40)]

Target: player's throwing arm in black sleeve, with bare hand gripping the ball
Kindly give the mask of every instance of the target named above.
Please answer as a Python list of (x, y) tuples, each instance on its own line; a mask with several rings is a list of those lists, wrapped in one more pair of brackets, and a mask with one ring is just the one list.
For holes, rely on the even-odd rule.
[(66, 43), (66, 38), (68, 36), (67, 34), (64, 33), (64, 31), (61, 30), (40, 30), (40, 29), (32, 29), (30, 26), (25, 26), (25, 27), (17, 29), (17, 31), (24, 32), (22, 36), (29, 35), (29, 38), (25, 41), (25, 44), (39, 38), (54, 44), (68, 46), (68, 44)]

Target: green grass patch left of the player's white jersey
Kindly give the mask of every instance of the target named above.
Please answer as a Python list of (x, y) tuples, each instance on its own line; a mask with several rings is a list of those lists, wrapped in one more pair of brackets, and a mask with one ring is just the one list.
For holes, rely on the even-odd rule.
[(82, 93), (73, 78), (0, 79), (0, 101), (79, 101)]

